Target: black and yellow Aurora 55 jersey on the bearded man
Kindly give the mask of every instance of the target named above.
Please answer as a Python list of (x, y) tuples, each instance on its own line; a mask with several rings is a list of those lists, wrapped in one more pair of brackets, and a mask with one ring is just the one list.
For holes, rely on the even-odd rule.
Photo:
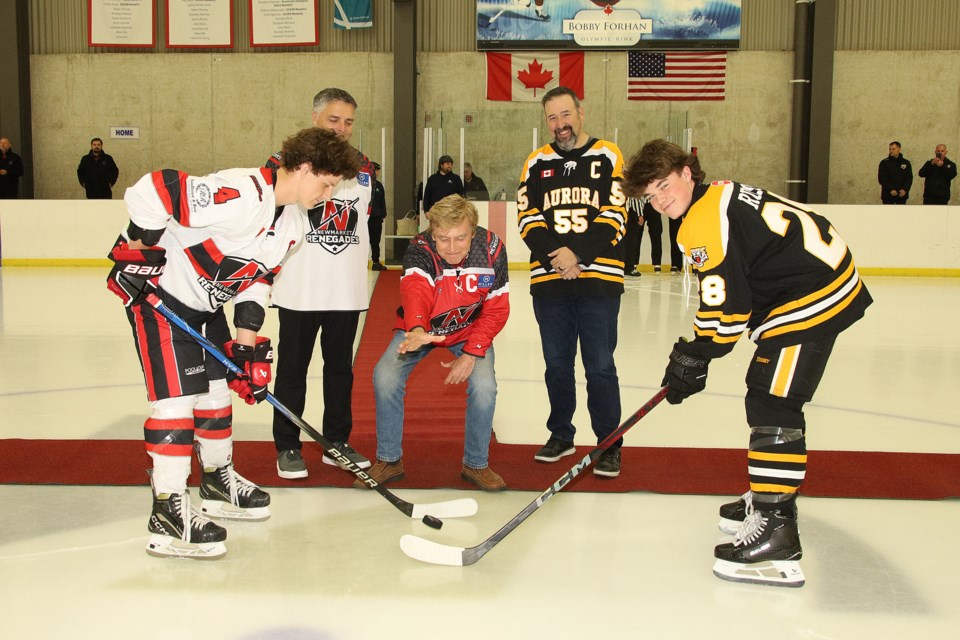
[[(517, 214), (530, 248), (531, 295), (623, 294), (622, 178), (623, 155), (604, 140), (591, 138), (571, 151), (548, 144), (530, 154), (520, 172)], [(550, 266), (548, 255), (561, 247), (580, 258), (576, 280), (563, 280)]]

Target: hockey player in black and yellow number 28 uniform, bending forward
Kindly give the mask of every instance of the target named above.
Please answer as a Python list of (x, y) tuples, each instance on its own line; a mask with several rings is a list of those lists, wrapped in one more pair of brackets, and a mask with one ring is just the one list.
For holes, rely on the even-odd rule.
[(807, 466), (803, 405), (823, 376), (837, 335), (872, 299), (828, 220), (805, 205), (731, 181), (703, 184), (695, 156), (648, 142), (624, 170), (624, 192), (671, 219), (700, 283), (694, 337), (670, 354), (662, 384), (679, 404), (702, 391), (714, 358), (744, 332), (757, 343), (747, 370), (750, 490), (724, 505), (731, 543), (714, 550), (724, 580), (799, 587), (803, 554), (797, 490)]

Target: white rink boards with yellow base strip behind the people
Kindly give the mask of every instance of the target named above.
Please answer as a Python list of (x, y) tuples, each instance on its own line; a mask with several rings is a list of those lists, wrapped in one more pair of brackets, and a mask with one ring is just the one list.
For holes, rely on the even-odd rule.
[[(475, 204), (481, 226), (488, 226), (488, 203)], [(530, 256), (517, 231), (517, 206), (506, 204), (507, 257), (512, 267), (525, 268)], [(833, 223), (861, 271), (960, 276), (960, 207), (813, 208)], [(105, 256), (127, 221), (121, 200), (5, 200), (0, 205), (2, 265), (106, 265)], [(650, 263), (649, 245), (645, 239), (641, 264)], [(665, 243), (667, 262), (668, 247)]]

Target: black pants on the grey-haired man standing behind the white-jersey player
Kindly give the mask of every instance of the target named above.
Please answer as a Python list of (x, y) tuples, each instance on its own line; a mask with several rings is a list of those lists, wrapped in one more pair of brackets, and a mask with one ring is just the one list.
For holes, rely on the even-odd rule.
[[(307, 369), (320, 333), (323, 357), (323, 428), (325, 438), (345, 442), (353, 429), (353, 341), (359, 311), (291, 311), (279, 309), (277, 379), (273, 395), (298, 416), (307, 398)], [(300, 449), (300, 429), (279, 411), (273, 412), (277, 451)]]

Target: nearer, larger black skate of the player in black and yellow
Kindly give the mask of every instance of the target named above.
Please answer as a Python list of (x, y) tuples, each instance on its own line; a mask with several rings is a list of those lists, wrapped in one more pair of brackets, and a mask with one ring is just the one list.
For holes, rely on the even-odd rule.
[(713, 574), (732, 582), (752, 582), (780, 587), (802, 587), (803, 557), (800, 534), (792, 509), (746, 509), (733, 542), (713, 550)]

